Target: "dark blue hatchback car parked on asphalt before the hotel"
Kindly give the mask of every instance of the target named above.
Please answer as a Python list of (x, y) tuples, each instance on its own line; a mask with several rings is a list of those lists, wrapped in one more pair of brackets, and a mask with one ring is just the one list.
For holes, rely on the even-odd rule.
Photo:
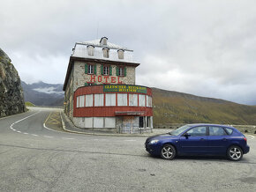
[(223, 155), (238, 161), (250, 151), (239, 130), (217, 124), (187, 124), (168, 134), (148, 137), (145, 146), (150, 154), (168, 160), (177, 155)]

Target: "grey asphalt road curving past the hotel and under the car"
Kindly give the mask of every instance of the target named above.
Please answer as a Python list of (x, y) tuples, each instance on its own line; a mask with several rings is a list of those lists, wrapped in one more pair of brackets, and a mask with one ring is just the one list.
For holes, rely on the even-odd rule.
[[(0, 119), (0, 191), (255, 191), (256, 139), (239, 162), (221, 157), (151, 157), (146, 137), (107, 137), (46, 129), (32, 108)], [(255, 136), (255, 135), (254, 135)]]

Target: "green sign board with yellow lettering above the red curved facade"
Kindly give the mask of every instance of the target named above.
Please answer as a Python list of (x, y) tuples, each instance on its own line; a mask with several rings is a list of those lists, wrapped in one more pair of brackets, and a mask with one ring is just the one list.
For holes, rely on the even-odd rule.
[(136, 85), (103, 85), (103, 92), (140, 92), (147, 93), (147, 87)]

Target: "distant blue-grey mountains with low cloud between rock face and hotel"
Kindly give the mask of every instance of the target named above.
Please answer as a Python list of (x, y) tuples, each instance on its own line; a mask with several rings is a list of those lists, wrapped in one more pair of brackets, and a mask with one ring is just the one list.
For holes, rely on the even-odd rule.
[(62, 84), (46, 84), (43, 82), (26, 84), (21, 81), (21, 85), (25, 101), (32, 102), (36, 106), (63, 106), (64, 92)]

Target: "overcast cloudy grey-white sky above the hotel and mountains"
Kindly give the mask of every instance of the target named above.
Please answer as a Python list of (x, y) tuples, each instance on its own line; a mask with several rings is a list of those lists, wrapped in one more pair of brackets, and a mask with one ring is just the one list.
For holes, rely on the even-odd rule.
[(0, 48), (26, 83), (64, 83), (76, 41), (134, 50), (137, 85), (256, 105), (256, 1), (1, 0)]

